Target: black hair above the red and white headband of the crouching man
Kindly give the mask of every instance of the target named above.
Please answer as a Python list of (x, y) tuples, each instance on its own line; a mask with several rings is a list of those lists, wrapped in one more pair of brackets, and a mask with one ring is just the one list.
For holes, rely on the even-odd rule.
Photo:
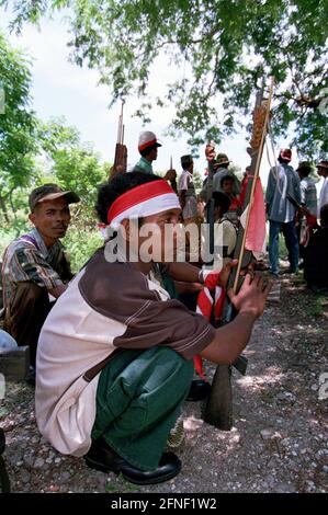
[(108, 224), (108, 213), (111, 205), (123, 193), (147, 182), (158, 181), (158, 175), (145, 172), (129, 172), (115, 175), (110, 183), (102, 184), (98, 190), (95, 210), (102, 224)]

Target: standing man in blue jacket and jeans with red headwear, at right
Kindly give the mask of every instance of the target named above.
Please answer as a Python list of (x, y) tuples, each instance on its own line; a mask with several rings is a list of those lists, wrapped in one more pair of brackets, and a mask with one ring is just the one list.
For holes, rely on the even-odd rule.
[(286, 148), (280, 151), (278, 167), (269, 173), (265, 203), (270, 220), (269, 259), (271, 273), (279, 274), (279, 234), (283, 231), (289, 250), (290, 273), (297, 272), (299, 248), (295, 226), (296, 208), (289, 196), (301, 203), (299, 179), (289, 164), (292, 160), (292, 150)]

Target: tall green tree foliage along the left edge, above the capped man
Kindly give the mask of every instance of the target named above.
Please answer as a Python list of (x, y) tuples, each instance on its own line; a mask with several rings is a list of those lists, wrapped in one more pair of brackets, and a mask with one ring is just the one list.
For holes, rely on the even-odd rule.
[(0, 80), (4, 90), (4, 113), (0, 114), (0, 209), (9, 221), (13, 193), (29, 185), (33, 174), (36, 118), (30, 107), (30, 64), (1, 34)]

